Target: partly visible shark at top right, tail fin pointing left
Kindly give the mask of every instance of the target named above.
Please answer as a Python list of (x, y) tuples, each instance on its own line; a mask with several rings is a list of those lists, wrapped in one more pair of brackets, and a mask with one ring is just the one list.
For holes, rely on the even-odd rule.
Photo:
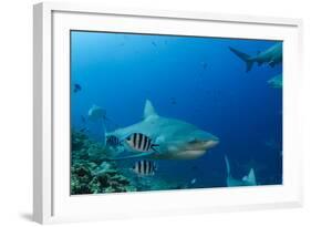
[(253, 65), (255, 62), (258, 63), (258, 65), (261, 65), (263, 63), (269, 64), (270, 66), (274, 66), (276, 64), (279, 64), (282, 62), (282, 43), (279, 42), (271, 48), (268, 48), (267, 50), (259, 52), (256, 56), (250, 56), (241, 51), (238, 51), (234, 48), (230, 48), (230, 51), (232, 51), (237, 56), (239, 56), (242, 61), (246, 63), (246, 71), (249, 72)]

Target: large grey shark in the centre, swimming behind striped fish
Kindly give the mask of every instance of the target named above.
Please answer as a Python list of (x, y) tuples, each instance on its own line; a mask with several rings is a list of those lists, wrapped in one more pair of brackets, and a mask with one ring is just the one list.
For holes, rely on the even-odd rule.
[(155, 159), (195, 159), (219, 143), (218, 137), (193, 124), (159, 116), (148, 100), (145, 104), (142, 122), (116, 130), (107, 135), (115, 135), (124, 140), (133, 133), (148, 136), (152, 138), (152, 143), (158, 146), (155, 147), (155, 151), (144, 154), (131, 151), (132, 155), (121, 158), (146, 155), (148, 158)]

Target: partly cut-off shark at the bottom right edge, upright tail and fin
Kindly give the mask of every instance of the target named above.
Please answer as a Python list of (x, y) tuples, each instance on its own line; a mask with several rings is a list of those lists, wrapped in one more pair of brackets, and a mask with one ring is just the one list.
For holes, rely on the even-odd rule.
[(243, 176), (242, 179), (236, 179), (231, 176), (230, 164), (228, 157), (225, 155), (226, 168), (227, 168), (227, 186), (236, 187), (236, 186), (255, 186), (257, 185), (256, 176), (253, 168), (250, 168), (247, 176)]

